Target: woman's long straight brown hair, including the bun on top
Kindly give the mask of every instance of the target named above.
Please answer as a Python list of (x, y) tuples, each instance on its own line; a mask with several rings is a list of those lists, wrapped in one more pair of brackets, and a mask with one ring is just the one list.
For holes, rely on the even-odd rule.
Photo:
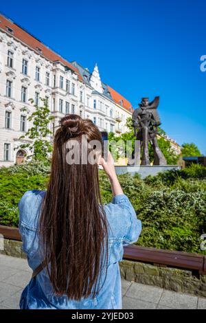
[[(102, 141), (98, 127), (65, 115), (54, 137), (52, 170), (41, 208), (40, 236), (54, 293), (73, 300), (95, 297), (107, 261), (107, 221), (98, 164), (67, 164), (68, 140)], [(88, 148), (88, 153), (89, 153)]]

